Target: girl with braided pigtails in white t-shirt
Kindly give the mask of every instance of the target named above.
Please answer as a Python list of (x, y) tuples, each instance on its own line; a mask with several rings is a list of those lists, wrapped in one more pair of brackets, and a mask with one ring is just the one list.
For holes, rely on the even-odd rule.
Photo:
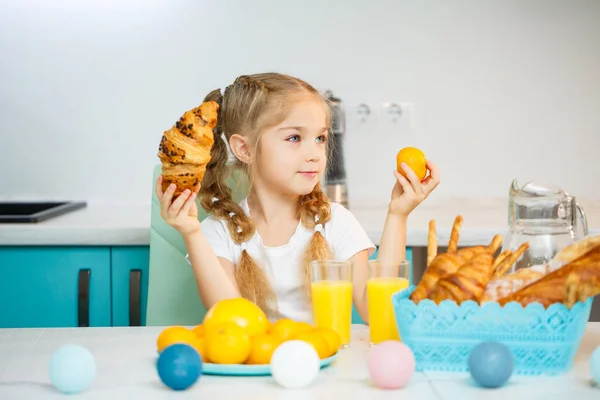
[[(156, 182), (161, 216), (183, 236), (204, 306), (242, 296), (271, 319), (311, 323), (310, 262), (349, 259), (353, 302), (367, 322), (367, 260), (375, 246), (354, 216), (321, 191), (330, 123), (324, 98), (300, 79), (265, 73), (240, 76), (223, 94), (217, 89), (204, 99), (211, 100), (220, 109), (199, 197), (212, 215), (200, 223), (196, 193), (173, 200), (174, 185), (163, 193), (162, 177)], [(404, 259), (407, 217), (439, 184), (436, 166), (427, 166), (423, 182), (406, 165), (408, 179), (394, 171), (380, 259)], [(234, 168), (250, 183), (239, 204), (225, 183)]]

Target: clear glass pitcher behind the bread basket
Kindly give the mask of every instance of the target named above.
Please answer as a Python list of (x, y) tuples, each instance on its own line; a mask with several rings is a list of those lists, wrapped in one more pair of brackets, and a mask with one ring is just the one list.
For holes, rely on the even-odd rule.
[(513, 180), (508, 202), (509, 232), (503, 250), (515, 251), (524, 242), (529, 248), (512, 271), (547, 265), (554, 255), (588, 234), (587, 219), (575, 198), (556, 185)]

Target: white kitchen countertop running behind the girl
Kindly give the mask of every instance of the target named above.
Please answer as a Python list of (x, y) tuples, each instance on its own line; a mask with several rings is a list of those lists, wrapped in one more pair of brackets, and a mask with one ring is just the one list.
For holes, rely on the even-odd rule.
[[(600, 234), (600, 201), (580, 200), (590, 234)], [(377, 244), (387, 213), (385, 203), (350, 203), (350, 210)], [(438, 244), (450, 237), (457, 214), (464, 218), (460, 245), (488, 244), (495, 234), (506, 234), (508, 203), (501, 198), (428, 199), (408, 220), (408, 246), (426, 246), (429, 220), (437, 225)], [(150, 204), (88, 204), (37, 224), (0, 224), (0, 246), (5, 245), (148, 245)]]

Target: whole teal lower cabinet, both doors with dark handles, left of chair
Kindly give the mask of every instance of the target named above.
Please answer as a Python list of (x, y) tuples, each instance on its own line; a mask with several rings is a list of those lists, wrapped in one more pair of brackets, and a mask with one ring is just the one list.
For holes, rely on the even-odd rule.
[(0, 247), (0, 328), (144, 325), (149, 246)]

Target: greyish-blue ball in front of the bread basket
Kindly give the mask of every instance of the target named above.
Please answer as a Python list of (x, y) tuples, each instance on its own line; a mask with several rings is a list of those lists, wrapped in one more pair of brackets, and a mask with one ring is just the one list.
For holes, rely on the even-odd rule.
[(497, 388), (504, 385), (513, 373), (513, 355), (502, 343), (483, 342), (469, 356), (469, 371), (478, 385)]

